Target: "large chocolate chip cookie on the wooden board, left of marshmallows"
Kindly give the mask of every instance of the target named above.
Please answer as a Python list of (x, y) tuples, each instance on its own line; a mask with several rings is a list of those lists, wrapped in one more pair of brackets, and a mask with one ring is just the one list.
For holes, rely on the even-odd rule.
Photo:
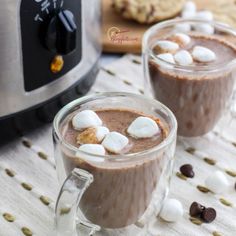
[(113, 0), (113, 8), (126, 19), (154, 23), (177, 16), (185, 0)]

